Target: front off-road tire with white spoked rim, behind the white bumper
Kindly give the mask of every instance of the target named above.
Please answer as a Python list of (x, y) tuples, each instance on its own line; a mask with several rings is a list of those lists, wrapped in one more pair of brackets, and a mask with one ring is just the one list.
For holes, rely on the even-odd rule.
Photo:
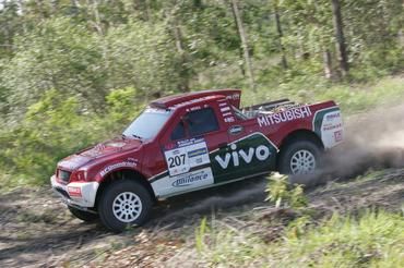
[[(131, 203), (131, 198), (134, 198), (133, 203)], [(121, 199), (123, 199), (123, 202)], [(126, 202), (127, 205), (122, 205), (126, 204)], [(119, 205), (117, 205), (118, 203)], [(136, 205), (134, 205), (134, 203), (136, 203)], [(135, 212), (135, 208), (136, 206), (139, 207), (139, 204), (141, 206), (140, 211), (136, 210), (139, 212)], [(152, 206), (153, 199), (151, 194), (141, 183), (131, 180), (122, 180), (112, 182), (103, 191), (98, 199), (97, 208), (99, 219), (108, 230), (112, 232), (122, 232), (128, 227), (142, 226), (147, 221)], [(123, 220), (118, 217), (123, 217)], [(131, 218), (134, 219), (131, 220)], [(130, 222), (124, 222), (124, 220), (130, 220)]]

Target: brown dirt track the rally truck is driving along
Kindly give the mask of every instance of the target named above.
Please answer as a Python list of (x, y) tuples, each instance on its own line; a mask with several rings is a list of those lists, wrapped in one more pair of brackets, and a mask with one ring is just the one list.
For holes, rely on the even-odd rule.
[[(143, 229), (126, 234), (108, 233), (98, 223), (86, 224), (73, 219), (64, 205), (47, 188), (37, 191), (19, 190), (0, 196), (0, 267), (54, 267), (99, 265), (99, 256), (123, 246), (142, 259), (141, 252), (150, 258), (145, 246), (153, 247), (156, 230), (158, 236), (173, 237), (183, 226), (197, 223), (201, 216), (212, 210), (246, 212), (254, 207), (269, 206), (264, 203), (264, 179), (231, 184), (212, 191), (174, 198), (161, 204), (153, 220)], [(384, 207), (400, 210), (404, 202), (404, 170), (389, 169), (370, 180), (328, 184), (308, 193), (310, 206), (319, 214), (335, 210), (353, 211), (364, 207)], [(145, 236), (145, 237), (144, 237)], [(146, 240), (143, 244), (135, 241)], [(143, 249), (136, 252), (138, 249)], [(126, 249), (128, 251), (128, 249)], [(107, 254), (107, 255), (108, 255)], [(167, 253), (168, 254), (168, 253)], [(174, 254), (174, 252), (170, 252)], [(166, 256), (167, 258), (170, 256)], [(108, 266), (124, 266), (119, 258), (109, 260)], [(154, 261), (162, 256), (153, 257)], [(163, 258), (164, 259), (164, 258)], [(147, 258), (145, 260), (147, 264)], [(158, 265), (157, 263), (153, 263)], [(151, 263), (148, 263), (151, 265)], [(162, 263), (161, 263), (162, 265)]]

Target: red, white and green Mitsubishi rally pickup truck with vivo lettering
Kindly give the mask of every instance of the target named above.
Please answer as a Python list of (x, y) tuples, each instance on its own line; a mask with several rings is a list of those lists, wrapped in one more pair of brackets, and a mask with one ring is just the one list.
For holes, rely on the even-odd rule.
[(240, 107), (238, 89), (164, 97), (122, 136), (62, 159), (50, 182), (79, 219), (109, 230), (147, 221), (161, 199), (271, 171), (307, 174), (343, 141), (334, 101)]

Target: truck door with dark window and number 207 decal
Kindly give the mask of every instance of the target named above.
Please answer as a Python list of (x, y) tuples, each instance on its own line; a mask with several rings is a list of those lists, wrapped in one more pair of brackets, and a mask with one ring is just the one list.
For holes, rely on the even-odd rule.
[[(214, 105), (214, 103), (213, 103)], [(228, 137), (213, 105), (178, 111), (161, 139), (167, 175), (153, 183), (159, 196), (170, 196), (217, 183), (212, 169), (212, 151), (226, 150)]]

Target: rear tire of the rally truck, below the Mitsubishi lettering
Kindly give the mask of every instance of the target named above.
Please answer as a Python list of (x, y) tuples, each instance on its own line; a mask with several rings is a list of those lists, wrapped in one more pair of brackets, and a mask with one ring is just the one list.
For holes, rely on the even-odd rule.
[(302, 141), (296, 139), (292, 141), (285, 148), (282, 149), (280, 154), (280, 161), (278, 161), (278, 171), (282, 174), (298, 174), (294, 172), (292, 168), (292, 161), (294, 158), (294, 166), (296, 167), (296, 154), (298, 153), (309, 153), (308, 156), (313, 157), (314, 160), (314, 168), (308, 173), (312, 173), (321, 167), (321, 155), (322, 148), (316, 143), (311, 141)]

